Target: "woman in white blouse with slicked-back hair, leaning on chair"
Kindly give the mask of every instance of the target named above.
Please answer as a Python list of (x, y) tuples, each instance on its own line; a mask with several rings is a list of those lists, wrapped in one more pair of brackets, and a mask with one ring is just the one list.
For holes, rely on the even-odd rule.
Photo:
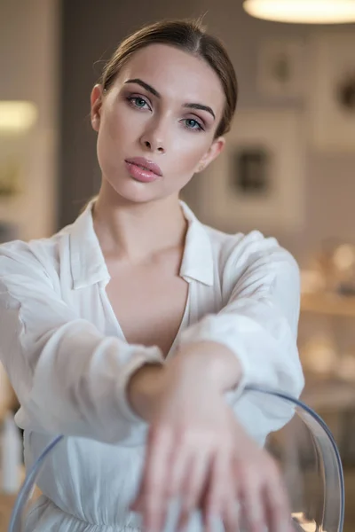
[(290, 527), (262, 444), (291, 414), (242, 391), (302, 390), (296, 262), (178, 200), (222, 152), (236, 99), (223, 46), (198, 24), (130, 35), (91, 92), (99, 197), (51, 239), (1, 247), (0, 345), (27, 465), (71, 436), (28, 530), (139, 529), (139, 515), (172, 529), (172, 500), (178, 529)]

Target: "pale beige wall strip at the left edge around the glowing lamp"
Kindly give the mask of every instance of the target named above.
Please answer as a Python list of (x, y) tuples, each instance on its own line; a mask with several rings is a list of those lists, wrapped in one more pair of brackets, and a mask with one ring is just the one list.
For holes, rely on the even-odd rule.
[(23, 193), (0, 201), (0, 218), (23, 239), (50, 235), (56, 227), (59, 0), (2, 0), (0, 4), (0, 100), (29, 100), (36, 127), (17, 140), (0, 137), (0, 151), (17, 143)]

